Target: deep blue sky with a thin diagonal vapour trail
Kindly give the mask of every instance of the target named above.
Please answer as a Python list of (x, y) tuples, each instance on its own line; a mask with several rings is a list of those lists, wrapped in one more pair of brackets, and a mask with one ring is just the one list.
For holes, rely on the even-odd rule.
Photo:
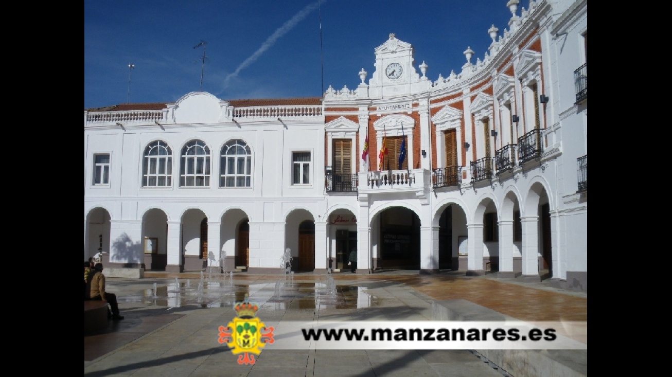
[[(85, 0), (84, 108), (173, 102), (200, 91), (220, 99), (320, 97), (354, 89), (390, 33), (415, 48), (435, 81), (509, 29), (507, 0)], [(529, 0), (521, 0), (529, 7)], [(322, 34), (322, 42), (320, 38)], [(322, 44), (322, 53), (321, 53)], [(129, 63), (134, 69), (129, 69)], [(130, 71), (130, 85), (129, 85)], [(419, 69), (417, 69), (419, 72)], [(130, 87), (130, 95), (129, 95)]]

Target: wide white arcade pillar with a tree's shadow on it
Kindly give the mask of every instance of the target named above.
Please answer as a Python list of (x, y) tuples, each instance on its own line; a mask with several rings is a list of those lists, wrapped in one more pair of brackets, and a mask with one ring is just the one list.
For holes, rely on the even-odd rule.
[(110, 220), (110, 263), (144, 263), (142, 221)]

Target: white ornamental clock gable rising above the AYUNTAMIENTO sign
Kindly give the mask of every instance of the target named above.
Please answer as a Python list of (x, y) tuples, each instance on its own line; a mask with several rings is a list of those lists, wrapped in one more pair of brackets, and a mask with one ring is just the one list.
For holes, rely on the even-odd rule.
[(390, 34), (388, 40), (374, 50), (376, 62), (369, 81), (369, 97), (401, 97), (427, 90), (427, 77), (415, 71), (413, 46)]

